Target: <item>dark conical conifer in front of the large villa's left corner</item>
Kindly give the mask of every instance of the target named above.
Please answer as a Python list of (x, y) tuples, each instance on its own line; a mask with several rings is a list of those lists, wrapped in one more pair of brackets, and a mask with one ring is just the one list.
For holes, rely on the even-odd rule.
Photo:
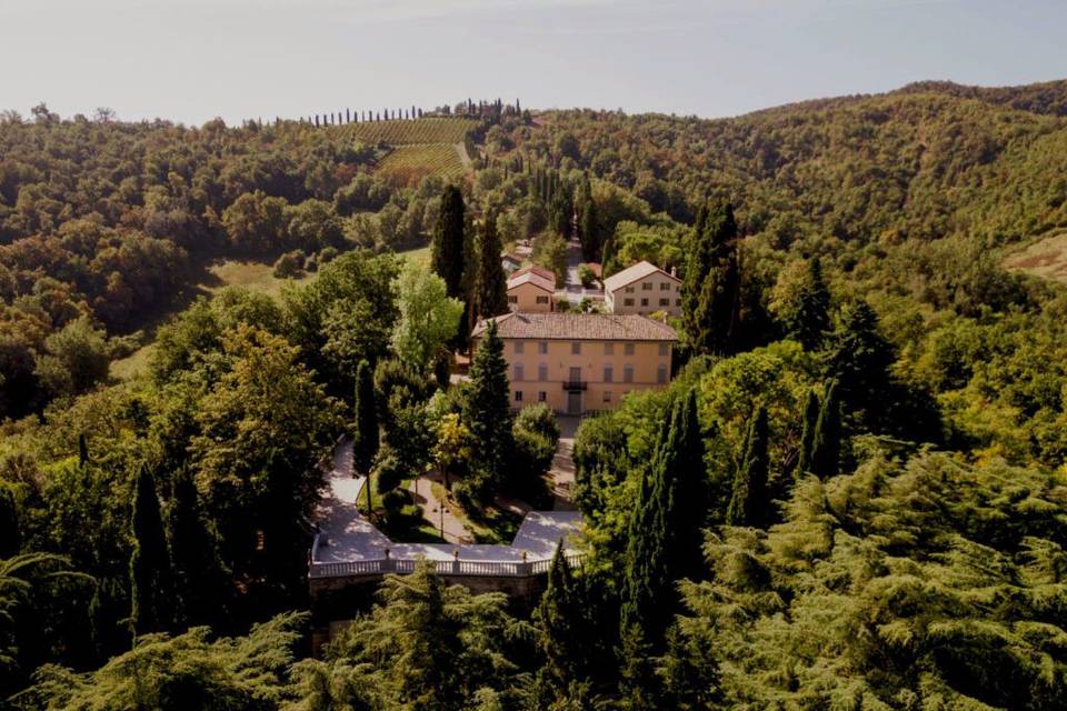
[(485, 337), (470, 362), (470, 384), (463, 401), (462, 419), (473, 439), (471, 489), (487, 501), (503, 481), (513, 448), (509, 409), (508, 361), (496, 321), (489, 321)]

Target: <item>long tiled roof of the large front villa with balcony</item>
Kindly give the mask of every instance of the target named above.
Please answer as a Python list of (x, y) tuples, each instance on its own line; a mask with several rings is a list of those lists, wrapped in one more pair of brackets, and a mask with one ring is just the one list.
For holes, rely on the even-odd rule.
[[(610, 313), (506, 313), (491, 321), (500, 338), (539, 341), (677, 341), (666, 323), (644, 316)], [(471, 336), (481, 337), (489, 320), (480, 321)]]

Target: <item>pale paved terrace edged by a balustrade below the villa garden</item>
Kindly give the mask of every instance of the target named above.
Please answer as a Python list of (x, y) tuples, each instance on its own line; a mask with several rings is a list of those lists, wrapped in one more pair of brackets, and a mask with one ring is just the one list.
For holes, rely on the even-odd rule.
[(577, 511), (530, 511), (510, 545), (478, 543), (395, 543), (358, 508), (363, 477), (352, 475), (352, 447), (333, 451), (329, 489), (319, 504), (319, 533), (311, 547), (311, 578), (411, 572), (419, 558), (433, 561), (439, 573), (525, 577), (548, 570), (562, 541), (568, 559), (578, 559), (581, 524)]

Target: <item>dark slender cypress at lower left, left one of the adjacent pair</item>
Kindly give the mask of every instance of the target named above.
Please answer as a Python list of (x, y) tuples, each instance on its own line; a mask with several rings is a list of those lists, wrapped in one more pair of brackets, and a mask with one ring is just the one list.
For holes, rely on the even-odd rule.
[(130, 555), (130, 620), (138, 634), (159, 632), (173, 622), (170, 553), (159, 512), (156, 478), (141, 462), (137, 472)]

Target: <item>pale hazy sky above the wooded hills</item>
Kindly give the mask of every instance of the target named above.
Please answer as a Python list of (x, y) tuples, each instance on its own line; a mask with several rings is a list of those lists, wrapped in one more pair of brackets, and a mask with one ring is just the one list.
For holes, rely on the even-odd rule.
[(200, 124), (471, 97), (715, 118), (1067, 78), (1067, 0), (0, 0), (0, 110)]

